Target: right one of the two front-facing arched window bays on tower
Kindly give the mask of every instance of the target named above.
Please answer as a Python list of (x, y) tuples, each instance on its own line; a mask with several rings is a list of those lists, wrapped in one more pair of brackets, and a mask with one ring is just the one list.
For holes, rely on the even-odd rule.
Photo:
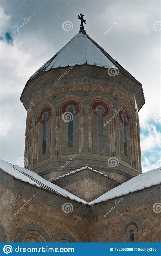
[(104, 97), (96, 96), (89, 103), (89, 148), (93, 154), (112, 155), (115, 151), (114, 120), (108, 123), (113, 104)]

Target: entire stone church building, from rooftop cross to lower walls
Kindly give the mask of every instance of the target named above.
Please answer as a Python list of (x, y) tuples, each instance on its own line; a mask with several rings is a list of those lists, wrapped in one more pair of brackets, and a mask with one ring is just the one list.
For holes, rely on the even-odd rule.
[(159, 242), (160, 169), (141, 170), (142, 85), (81, 25), (22, 92), (25, 165), (1, 161), (0, 242)]

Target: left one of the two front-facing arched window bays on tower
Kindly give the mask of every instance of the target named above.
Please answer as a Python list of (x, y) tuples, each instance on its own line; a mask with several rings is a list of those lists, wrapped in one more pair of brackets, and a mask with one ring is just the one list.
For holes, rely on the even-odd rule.
[(57, 154), (79, 153), (83, 147), (83, 101), (74, 95), (59, 101), (56, 123)]

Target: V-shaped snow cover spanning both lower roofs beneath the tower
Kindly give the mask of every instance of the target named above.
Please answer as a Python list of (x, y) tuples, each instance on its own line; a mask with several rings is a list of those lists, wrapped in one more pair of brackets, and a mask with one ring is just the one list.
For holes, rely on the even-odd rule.
[[(83, 168), (86, 169), (87, 167), (83, 167)], [(87, 205), (93, 205), (95, 203), (107, 201), (108, 199), (113, 199), (115, 197), (127, 195), (137, 190), (148, 188), (161, 183), (161, 167), (160, 167), (160, 168), (145, 172), (143, 174), (139, 174), (138, 176), (133, 177), (129, 181), (122, 183), (121, 185), (109, 190), (105, 194), (101, 195), (100, 197), (88, 203), (85, 200), (66, 191), (65, 189), (53, 184), (52, 182), (47, 181), (46, 179), (43, 179), (37, 173), (30, 171), (28, 169), (22, 168), (18, 165), (11, 165), (11, 163), (7, 163), (6, 161), (0, 160), (0, 169), (10, 174), (11, 176), (15, 177), (18, 180), (28, 182), (31, 185), (35, 185), (39, 188), (47, 189), (49, 191), (52, 191), (53, 193), (57, 193), (64, 197), (68, 197), (71, 200), (75, 200), (77, 202), (87, 204)]]

